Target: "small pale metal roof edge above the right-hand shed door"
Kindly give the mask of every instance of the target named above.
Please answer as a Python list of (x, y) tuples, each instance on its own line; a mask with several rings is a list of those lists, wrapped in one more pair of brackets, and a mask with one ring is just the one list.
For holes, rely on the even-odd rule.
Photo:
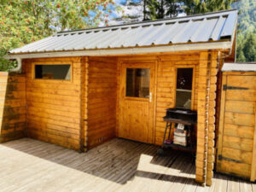
[(224, 63), (222, 72), (256, 72), (256, 63)]

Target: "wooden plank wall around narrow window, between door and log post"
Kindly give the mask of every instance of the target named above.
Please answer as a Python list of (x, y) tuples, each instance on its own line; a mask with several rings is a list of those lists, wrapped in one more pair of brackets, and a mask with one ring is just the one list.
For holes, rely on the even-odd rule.
[[(119, 62), (155, 62), (156, 65), (156, 90), (155, 90), (155, 122), (154, 122), (154, 144), (161, 145), (166, 129), (166, 122), (163, 117), (166, 115), (166, 108), (175, 107), (176, 97), (176, 68), (194, 67), (194, 87), (191, 108), (197, 110), (198, 81), (199, 81), (199, 53), (179, 53), (170, 55), (143, 55), (120, 57)], [(119, 108), (119, 107), (117, 107)], [(118, 135), (118, 127), (117, 127)]]

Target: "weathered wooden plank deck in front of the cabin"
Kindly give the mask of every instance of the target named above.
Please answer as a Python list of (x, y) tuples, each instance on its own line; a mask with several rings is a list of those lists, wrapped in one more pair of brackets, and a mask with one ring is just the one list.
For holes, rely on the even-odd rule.
[[(15, 149), (15, 152), (9, 151), (8, 148)], [(55, 170), (56, 167), (55, 164), (58, 164), (61, 166), (58, 167), (58, 169), (56, 168), (56, 172), (60, 172), (59, 174), (64, 180), (67, 180), (65, 180), (67, 183), (71, 183), (72, 180), (75, 180), (75, 183), (85, 185), (90, 183), (90, 189), (94, 189), (92, 186), (97, 186), (98, 188), (99, 183), (105, 183), (105, 185), (102, 184), (102, 189), (95, 189), (97, 191), (107, 191), (107, 189), (127, 189), (127, 191), (131, 191), (131, 189), (132, 191), (133, 189), (134, 191), (196, 191), (197, 189), (211, 189), (212, 191), (229, 191), (228, 183), (232, 183), (230, 186), (235, 186), (235, 190), (230, 191), (236, 191), (241, 188), (247, 189), (246, 191), (253, 191), (255, 188), (252, 183), (219, 174), (215, 174), (212, 188), (201, 188), (201, 186), (195, 183), (195, 164), (192, 162), (191, 154), (170, 150), (166, 153), (166, 156), (160, 157), (156, 154), (158, 148), (159, 147), (154, 145), (115, 138), (108, 143), (91, 149), (88, 153), (79, 154), (67, 148), (23, 138), (1, 144), (0, 153), (3, 152), (7, 154), (6, 161), (8, 160), (9, 162), (6, 163), (6, 166), (15, 166), (15, 164), (19, 163), (26, 164), (26, 162), (21, 161), (26, 159), (28, 161), (31, 160), (31, 162), (35, 164), (35, 170), (38, 169), (35, 173), (41, 174), (43, 177), (46, 177), (44, 175), (48, 174), (48, 170), (45, 171), (45, 169), (49, 167), (49, 172), (53, 172), (52, 170)], [(32, 160), (32, 157), (27, 154), (31, 154), (36, 158)], [(19, 159), (19, 156), (22, 156), (22, 158)], [(49, 161), (54, 165), (50, 164)], [(27, 162), (27, 165), (29, 166), (30, 164)], [(38, 168), (39, 166), (37, 165), (40, 165), (40, 168)], [(3, 166), (5, 166), (4, 161), (0, 160), (0, 167)], [(24, 165), (24, 167), (25, 166), (26, 165)], [(71, 171), (63, 166), (79, 171), (79, 173), (68, 173)], [(0, 172), (2, 172), (2, 174), (0, 173), (0, 187), (2, 186), (1, 180), (3, 181), (2, 175), (15, 174), (15, 172), (18, 174), (19, 169), (24, 170), (24, 167), (20, 166), (17, 169), (14, 168), (13, 172), (11, 172), (10, 168), (2, 168), (2, 170), (0, 168)], [(42, 167), (44, 168), (43, 171), (40, 170)], [(29, 172), (32, 171), (29, 170)], [(66, 176), (63, 175), (65, 172), (67, 173)], [(56, 177), (60, 177), (57, 173), (56, 175), (54, 173), (55, 172), (51, 173), (51, 175), (48, 174), (47, 179), (55, 180)], [(84, 173), (86, 174), (83, 175)], [(68, 174), (70, 174), (70, 178)], [(29, 177), (32, 176), (30, 175)], [(6, 177), (6, 179), (8, 179), (8, 177)], [(22, 180), (22, 177), (19, 177), (19, 179)], [(26, 180), (27, 178), (25, 177), (24, 179)], [(31, 178), (31, 180), (32, 179), (33, 178)], [(38, 178), (34, 178), (34, 180), (35, 179)], [(62, 183), (65, 183), (64, 180)], [(46, 181), (47, 180), (44, 182)], [(38, 183), (40, 183), (40, 179)], [(41, 184), (41, 189), (44, 189), (43, 183)], [(53, 185), (57, 185), (57, 183), (56, 180)], [(238, 188), (236, 186), (237, 184)], [(34, 185), (36, 185), (35, 182)], [(152, 186), (149, 187), (150, 185)], [(83, 185), (81, 185), (81, 187), (82, 186)], [(112, 187), (110, 188), (110, 186)], [(148, 186), (148, 189), (145, 186)], [(18, 185), (16, 187), (18, 187)], [(65, 187), (67, 187), (67, 185)], [(26, 189), (27, 188), (28, 187), (26, 187)], [(231, 189), (233, 189), (233, 187)]]

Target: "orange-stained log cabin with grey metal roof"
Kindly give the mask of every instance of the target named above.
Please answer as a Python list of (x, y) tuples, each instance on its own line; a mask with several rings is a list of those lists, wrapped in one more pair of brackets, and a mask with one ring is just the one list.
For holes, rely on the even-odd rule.
[(197, 112), (195, 179), (211, 185), (220, 69), (235, 60), (236, 24), (232, 9), (57, 32), (13, 49), (6, 59), (18, 66), (1, 73), (0, 142), (32, 137), (80, 152), (113, 137), (161, 145), (166, 108), (187, 108)]

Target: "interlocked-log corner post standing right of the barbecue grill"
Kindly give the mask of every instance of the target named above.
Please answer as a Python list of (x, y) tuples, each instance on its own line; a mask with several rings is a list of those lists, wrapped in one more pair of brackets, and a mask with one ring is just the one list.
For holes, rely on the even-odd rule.
[(201, 52), (198, 90), (198, 125), (195, 180), (212, 185), (215, 160), (215, 99), (217, 89), (218, 53)]

